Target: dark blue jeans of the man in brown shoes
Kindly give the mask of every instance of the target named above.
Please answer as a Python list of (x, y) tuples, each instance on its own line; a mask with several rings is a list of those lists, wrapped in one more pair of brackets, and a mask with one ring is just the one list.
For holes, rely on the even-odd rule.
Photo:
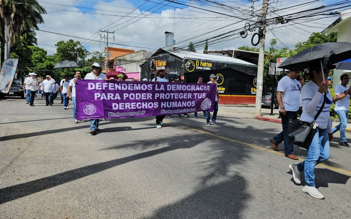
[(284, 153), (285, 155), (292, 155), (294, 154), (294, 145), (292, 144), (289, 136), (289, 118), (290, 119), (297, 119), (297, 112), (296, 111), (286, 111), (285, 116), (280, 114), (281, 116), (281, 125), (283, 126), (283, 131), (273, 137), (273, 141), (276, 145), (279, 145), (281, 142), (284, 141)]

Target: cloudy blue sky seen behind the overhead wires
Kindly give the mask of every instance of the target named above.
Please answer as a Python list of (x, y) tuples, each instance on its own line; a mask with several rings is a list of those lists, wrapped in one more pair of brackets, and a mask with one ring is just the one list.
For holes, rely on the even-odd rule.
[[(46, 2), (55, 3), (55, 4), (57, 3), (56, 0), (47, 0)], [(304, 1), (302, 0), (285, 1), (284, 5), (280, 6), (278, 4), (272, 7), (283, 8), (283, 7), (292, 6), (289, 4), (296, 5), (299, 2), (303, 3), (306, 1), (305, 0)], [(49, 14), (43, 16), (45, 24), (39, 26), (41, 30), (60, 33), (60, 34), (66, 34), (71, 36), (77, 36), (81, 38), (90, 38), (91, 36), (94, 36), (91, 39), (96, 37), (95, 40), (100, 40), (100, 37), (97, 34), (95, 34), (96, 32), (98, 32), (100, 29), (104, 28), (105, 26), (111, 24), (112, 22), (120, 18), (120, 17), (101, 15), (101, 14), (126, 15), (127, 12), (130, 12), (132, 10), (131, 8), (135, 9), (135, 6), (133, 6), (133, 2), (131, 0), (130, 1), (115, 0), (111, 3), (99, 1), (96, 3), (96, 5), (84, 5), (84, 7), (87, 7), (87, 8), (89, 7), (94, 8), (95, 11), (92, 10), (90, 12), (97, 13), (97, 15), (67, 12), (67, 11), (52, 13), (52, 12), (58, 11), (58, 9), (69, 10), (69, 11), (78, 11), (78, 10), (86, 11), (86, 9), (83, 9), (83, 8), (80, 8), (80, 9), (75, 8), (78, 6), (83, 6), (79, 4), (83, 4), (86, 2), (62, 0), (60, 1), (59, 5), (50, 5), (44, 2), (42, 3), (39, 2), (39, 3), (44, 8), (46, 8), (48, 12), (50, 12)], [(71, 7), (64, 7), (64, 6), (61, 6), (60, 4), (70, 5)], [(151, 8), (154, 5), (155, 4), (152, 5), (151, 3), (148, 3), (145, 6), (143, 6), (142, 9)], [(313, 5), (313, 6), (315, 7), (316, 5)], [(155, 10), (159, 7), (160, 5), (156, 6), (152, 10)], [(236, 7), (238, 7), (238, 5), (236, 5)], [(243, 7), (243, 8), (248, 9), (248, 7)], [(213, 8), (207, 8), (207, 9), (214, 10)], [(287, 13), (292, 14), (293, 12), (301, 11), (304, 9), (305, 8), (291, 10), (289, 12), (286, 12), (285, 14)], [(105, 10), (105, 11), (101, 11), (101, 10)], [(179, 18), (179, 17), (184, 18), (184, 19), (175, 19), (174, 39), (177, 42), (177, 44), (175, 45), (176, 47), (187, 47), (190, 41), (193, 41), (194, 43), (196, 43), (201, 40), (205, 40), (206, 38), (210, 39), (211, 37), (219, 35), (221, 33), (242, 28), (245, 25), (245, 22), (240, 22), (238, 24), (235, 24), (238, 21), (237, 19), (226, 18), (223, 15), (201, 11), (194, 8), (192, 8), (191, 10), (200, 11), (201, 13), (197, 13), (197, 12), (193, 12), (185, 9), (176, 9), (175, 11), (171, 9), (167, 9), (167, 10), (163, 10), (160, 13), (158, 12), (158, 14), (147, 16), (148, 18), (143, 18), (140, 21), (137, 21), (121, 30), (117, 30), (118, 28), (121, 28), (133, 21), (138, 20), (139, 18), (144, 17), (146, 14), (149, 14), (149, 12), (147, 12), (139, 16), (138, 18), (131, 20), (128, 23), (121, 24), (122, 22), (125, 22), (130, 19), (130, 18), (123, 18), (122, 20), (116, 22), (112, 26), (115, 26), (118, 24), (121, 24), (121, 25), (114, 28), (109, 28), (108, 30), (109, 31), (117, 30), (114, 34), (115, 36), (114, 43), (121, 43), (121, 44), (132, 45), (132, 46), (158, 49), (159, 47), (164, 47), (164, 44), (165, 44), (164, 32), (165, 31), (173, 32), (173, 24), (174, 24), (173, 18), (172, 18), (173, 13), (175, 13), (176, 18)], [(140, 14), (140, 13), (142, 12), (140, 12), (139, 10), (136, 10), (133, 12), (133, 14), (129, 16), (135, 16), (136, 14)], [(242, 14), (237, 14), (237, 16), (243, 17)], [(163, 17), (163, 19), (160, 19), (160, 17)], [(198, 17), (201, 17), (202, 19), (198, 19)], [(218, 18), (214, 19), (214, 17), (218, 17)], [(154, 19), (150, 19), (150, 18), (154, 18)], [(193, 18), (193, 19), (185, 19), (185, 18)], [(326, 28), (329, 24), (331, 24), (335, 19), (336, 18), (320, 20), (318, 21), (318, 25), (316, 25), (315, 22), (308, 23), (311, 26), (314, 26), (316, 28), (306, 27), (303, 25), (294, 25), (295, 27), (293, 27), (291, 26), (291, 24), (293, 24), (292, 22), (285, 25), (271, 26), (271, 27), (268, 27), (267, 30), (270, 30), (274, 27), (275, 29), (273, 30), (273, 32), (268, 31), (266, 35), (266, 40), (267, 40), (266, 42), (269, 42), (269, 40), (272, 38), (278, 38), (282, 43), (278, 41), (277, 46), (284, 47), (284, 45), (286, 45), (288, 47), (293, 47), (293, 45), (295, 45), (297, 42), (305, 41), (310, 35), (304, 30), (308, 32), (320, 32), (324, 28)], [(217, 28), (224, 27), (229, 24), (233, 24), (233, 25), (228, 28), (221, 29), (219, 31), (213, 31)], [(109, 26), (109, 27), (112, 27), (112, 26)], [(285, 26), (285, 28), (283, 26)], [(207, 33), (207, 32), (211, 32), (211, 33)], [(275, 34), (275, 36), (273, 34)], [(201, 36), (201, 37), (197, 37), (197, 36)], [(85, 41), (82, 39), (55, 35), (55, 34), (45, 33), (41, 31), (37, 32), (37, 37), (38, 37), (38, 46), (46, 49), (49, 55), (52, 55), (56, 52), (56, 47), (54, 45), (58, 41), (61, 41), (61, 40), (67, 41), (69, 39), (80, 41), (81, 43)], [(110, 35), (110, 37), (112, 36)], [(194, 38), (190, 41), (182, 42), (192, 37), (197, 37), (197, 38)], [(233, 49), (243, 45), (251, 46), (251, 36), (248, 36), (245, 39), (241, 39), (240, 36), (238, 35), (238, 31), (236, 31), (235, 35), (233, 35), (232, 38), (235, 38), (235, 37), (237, 38), (223, 44), (218, 44), (218, 45), (209, 44), (209, 48), (211, 50), (215, 50), (215, 49), (220, 50), (220, 49)], [(153, 40), (148, 40), (148, 39), (153, 39)], [(113, 40), (109, 40), (109, 42), (111, 41)], [(103, 50), (105, 46), (103, 42), (94, 43), (89, 41), (85, 42), (84, 45), (89, 46), (88, 49), (90, 52), (101, 51), (100, 48)], [(141, 50), (141, 48), (124, 47), (124, 46), (118, 46), (118, 45), (114, 45), (114, 46), (127, 48), (127, 49), (134, 49), (136, 51)], [(268, 46), (269, 46), (269, 43), (266, 43), (266, 49), (268, 48)], [(201, 46), (197, 48), (197, 50), (202, 51), (203, 48), (204, 47)], [(146, 49), (146, 50), (151, 51), (152, 49)]]

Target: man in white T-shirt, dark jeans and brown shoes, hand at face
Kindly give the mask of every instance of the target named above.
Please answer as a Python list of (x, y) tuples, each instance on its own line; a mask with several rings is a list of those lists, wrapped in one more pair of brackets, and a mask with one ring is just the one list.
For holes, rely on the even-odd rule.
[[(296, 79), (299, 79), (297, 81)], [(278, 151), (278, 145), (284, 141), (285, 156), (298, 160), (294, 154), (294, 145), (289, 139), (288, 128), (289, 118), (297, 119), (297, 110), (300, 103), (300, 90), (304, 85), (303, 77), (300, 77), (300, 71), (290, 71), (287, 76), (280, 79), (277, 86), (277, 101), (279, 103), (279, 114), (281, 116), (281, 124), (283, 131), (270, 138), (273, 145), (273, 150)]]

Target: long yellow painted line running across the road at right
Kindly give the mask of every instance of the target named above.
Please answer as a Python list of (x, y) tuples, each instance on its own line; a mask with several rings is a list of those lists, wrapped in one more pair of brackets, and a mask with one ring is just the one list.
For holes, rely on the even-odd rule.
[[(191, 128), (191, 127), (188, 127), (188, 126), (179, 125), (179, 124), (175, 124), (175, 123), (172, 123), (172, 124), (176, 125), (176, 126), (183, 127), (183, 128), (187, 128), (187, 129), (190, 129), (190, 130), (202, 133), (202, 134), (211, 135), (211, 136), (216, 137), (216, 138), (221, 138), (223, 140), (231, 141), (231, 142), (238, 143), (238, 144), (243, 144), (243, 145), (246, 145), (246, 146), (249, 146), (249, 147), (254, 147), (256, 149), (267, 151), (267, 152), (270, 152), (270, 153), (274, 153), (274, 154), (277, 154), (277, 155), (280, 155), (280, 156), (285, 156), (284, 153), (281, 153), (281, 152), (278, 152), (278, 151), (275, 151), (275, 150), (272, 150), (272, 149), (267, 149), (267, 148), (260, 147), (260, 146), (254, 145), (254, 144), (250, 144), (250, 143), (246, 143), (246, 142), (243, 142), (243, 141), (234, 140), (232, 138), (227, 138), (227, 137), (224, 137), (224, 136), (221, 136), (221, 135), (217, 135), (217, 134), (213, 134), (213, 133), (210, 133), (210, 132), (207, 132), (207, 131), (203, 131), (203, 130), (200, 130), (200, 129), (195, 129), (195, 128)], [(298, 160), (302, 162), (305, 159), (298, 158)], [(329, 165), (326, 165), (326, 164), (323, 164), (323, 163), (319, 163), (317, 165), (321, 166), (323, 168), (326, 168), (326, 169), (330, 169), (330, 170), (335, 171), (335, 172), (339, 172), (339, 173), (351, 176), (351, 171), (348, 171), (348, 170), (345, 170), (345, 169), (332, 167), (332, 166), (329, 166)]]

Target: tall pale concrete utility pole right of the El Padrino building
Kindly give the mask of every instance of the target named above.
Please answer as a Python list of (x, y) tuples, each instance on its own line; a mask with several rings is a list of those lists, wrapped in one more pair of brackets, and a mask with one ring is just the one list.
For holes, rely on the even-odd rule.
[(265, 37), (266, 37), (265, 35), (266, 35), (267, 5), (268, 5), (268, 0), (263, 0), (263, 3), (262, 3), (262, 20), (261, 20), (261, 28), (263, 30), (261, 29), (262, 30), (262, 36), (261, 36), (261, 39), (260, 39), (260, 51), (259, 51), (259, 55), (258, 55), (255, 116), (261, 116), (263, 67), (264, 67), (264, 42), (265, 42)]

